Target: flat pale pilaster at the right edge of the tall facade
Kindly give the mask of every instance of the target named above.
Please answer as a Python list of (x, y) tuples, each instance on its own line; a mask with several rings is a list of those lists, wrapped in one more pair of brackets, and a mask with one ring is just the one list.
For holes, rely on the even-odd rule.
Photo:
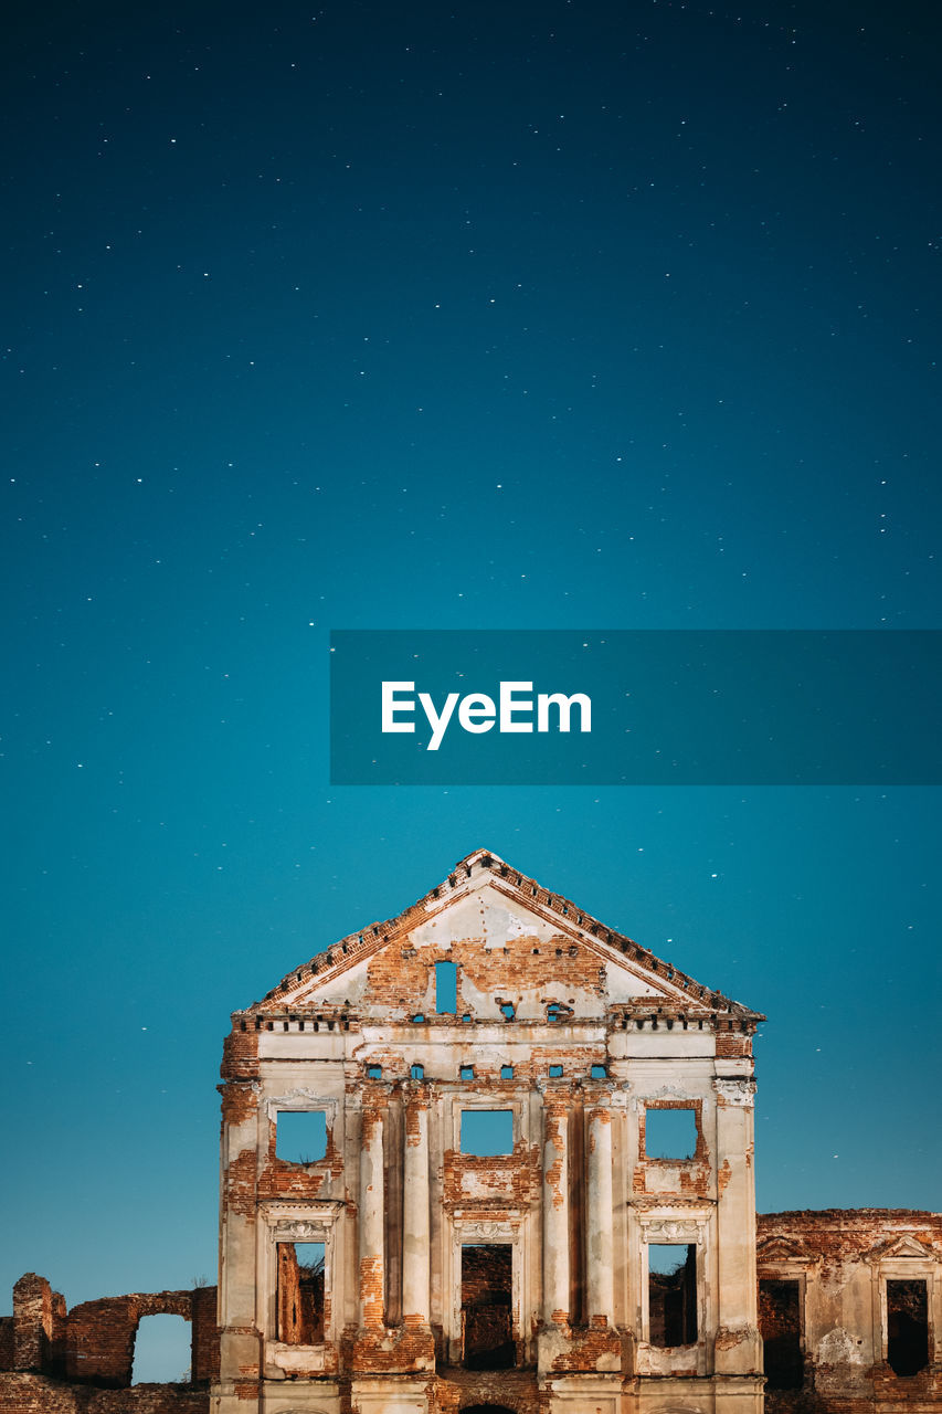
[(720, 1077), (716, 1093), (717, 1374), (761, 1370), (755, 1278), (752, 1104), (755, 1082)]

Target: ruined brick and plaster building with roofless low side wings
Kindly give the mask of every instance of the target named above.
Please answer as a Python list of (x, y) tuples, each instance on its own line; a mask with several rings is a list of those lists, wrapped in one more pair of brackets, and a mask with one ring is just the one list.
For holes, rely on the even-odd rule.
[(939, 1414), (942, 1217), (757, 1230), (761, 1019), (468, 855), (235, 1012), (191, 1383), (28, 1277), (0, 1411)]

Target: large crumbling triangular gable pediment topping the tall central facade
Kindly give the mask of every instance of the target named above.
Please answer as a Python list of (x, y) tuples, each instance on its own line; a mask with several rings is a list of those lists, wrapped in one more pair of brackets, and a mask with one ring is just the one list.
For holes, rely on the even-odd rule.
[(761, 1019), (487, 850), (396, 918), (294, 969), (252, 1010), (341, 1007), (413, 1019), (436, 1010), (438, 962), (458, 966), (458, 1011), (471, 1019), (506, 1017), (508, 1007), (530, 1021), (549, 1008), (557, 1019), (603, 1017), (620, 1005)]

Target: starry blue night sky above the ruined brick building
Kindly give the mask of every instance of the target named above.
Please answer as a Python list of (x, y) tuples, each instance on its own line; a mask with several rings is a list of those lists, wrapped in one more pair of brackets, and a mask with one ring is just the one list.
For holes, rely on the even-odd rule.
[(0, 1292), (214, 1281), (229, 1012), (475, 847), (768, 1014), (761, 1209), (938, 1206), (938, 790), (327, 723), (331, 628), (942, 626), (938, 10), (11, 23)]

